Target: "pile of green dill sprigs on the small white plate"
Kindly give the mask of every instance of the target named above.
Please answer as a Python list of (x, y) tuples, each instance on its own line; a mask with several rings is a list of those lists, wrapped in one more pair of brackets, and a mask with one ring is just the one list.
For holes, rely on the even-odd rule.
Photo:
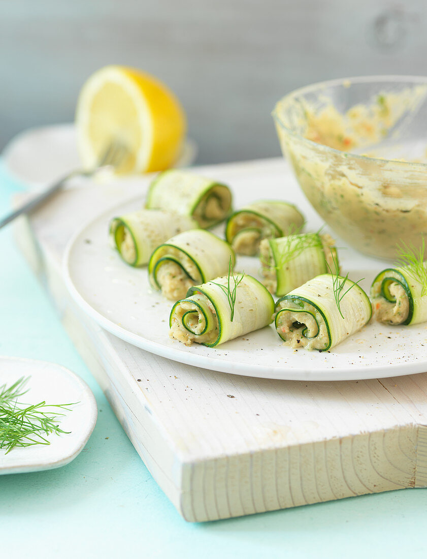
[[(6, 454), (15, 447), (50, 444), (46, 438), (51, 433), (68, 433), (58, 425), (65, 414), (56, 409), (71, 411), (74, 404), (24, 404), (18, 398), (28, 392), (30, 377), (21, 377), (11, 386), (0, 386), (0, 449)], [(75, 402), (74, 402), (75, 403)]]

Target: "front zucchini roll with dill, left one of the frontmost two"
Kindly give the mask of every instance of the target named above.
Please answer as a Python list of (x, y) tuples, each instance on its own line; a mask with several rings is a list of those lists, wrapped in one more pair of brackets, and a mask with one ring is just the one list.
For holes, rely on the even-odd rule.
[[(227, 293), (234, 286), (236, 297), (231, 304)], [(267, 326), (273, 311), (270, 293), (252, 276), (220, 277), (191, 287), (186, 298), (175, 303), (169, 319), (170, 337), (185, 345), (196, 342), (215, 347)]]

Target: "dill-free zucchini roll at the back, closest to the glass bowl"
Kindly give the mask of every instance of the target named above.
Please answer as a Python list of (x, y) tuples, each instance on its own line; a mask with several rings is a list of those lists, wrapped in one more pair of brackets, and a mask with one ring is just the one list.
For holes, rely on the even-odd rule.
[(303, 215), (287, 202), (253, 202), (234, 212), (227, 221), (226, 238), (237, 254), (258, 254), (262, 239), (274, 239), (298, 233)]

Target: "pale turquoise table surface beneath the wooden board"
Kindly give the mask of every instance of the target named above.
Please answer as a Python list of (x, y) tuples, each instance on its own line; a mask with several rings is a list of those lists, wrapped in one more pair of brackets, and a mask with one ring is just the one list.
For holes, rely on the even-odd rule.
[[(0, 169), (0, 214), (16, 191)], [(152, 479), (57, 318), (0, 230), (0, 354), (54, 361), (94, 392), (98, 423), (57, 470), (0, 476), (0, 557), (425, 557), (427, 492), (407, 489), (188, 524)]]

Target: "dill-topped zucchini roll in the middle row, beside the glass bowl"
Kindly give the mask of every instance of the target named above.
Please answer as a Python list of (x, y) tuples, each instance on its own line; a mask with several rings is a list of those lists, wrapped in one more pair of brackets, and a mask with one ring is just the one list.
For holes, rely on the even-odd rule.
[(279, 239), (263, 239), (260, 259), (263, 284), (278, 297), (311, 278), (338, 266), (335, 241), (329, 235), (303, 233)]

